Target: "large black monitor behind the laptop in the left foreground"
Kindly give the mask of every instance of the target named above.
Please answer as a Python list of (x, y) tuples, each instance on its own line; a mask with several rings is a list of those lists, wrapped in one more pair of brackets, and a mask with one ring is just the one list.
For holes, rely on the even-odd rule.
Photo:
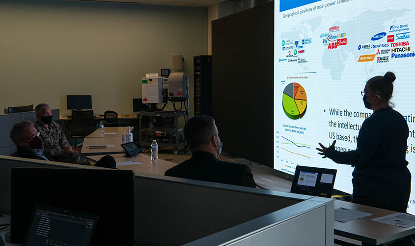
[(134, 245), (133, 171), (12, 168), (12, 243), (23, 243), (36, 204), (99, 215), (92, 245)]

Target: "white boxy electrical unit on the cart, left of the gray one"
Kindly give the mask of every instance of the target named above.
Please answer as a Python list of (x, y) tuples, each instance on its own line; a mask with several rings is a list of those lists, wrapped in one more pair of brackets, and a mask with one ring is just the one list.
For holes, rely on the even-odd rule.
[(157, 73), (141, 78), (142, 103), (162, 103), (163, 83), (163, 77)]

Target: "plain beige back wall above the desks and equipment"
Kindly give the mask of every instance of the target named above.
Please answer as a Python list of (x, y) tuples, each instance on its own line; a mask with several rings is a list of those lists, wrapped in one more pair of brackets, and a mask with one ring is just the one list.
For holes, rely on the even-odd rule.
[(70, 115), (67, 94), (92, 94), (94, 114), (130, 114), (145, 73), (182, 53), (193, 89), (193, 57), (207, 54), (206, 7), (18, 2), (0, 0), (1, 111), (46, 102)]

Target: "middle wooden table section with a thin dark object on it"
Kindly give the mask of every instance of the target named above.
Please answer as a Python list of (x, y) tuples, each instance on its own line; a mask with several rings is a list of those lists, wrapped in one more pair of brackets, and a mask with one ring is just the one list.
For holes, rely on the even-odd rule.
[[(122, 154), (121, 137), (84, 138), (81, 153), (92, 154)], [(90, 145), (113, 145), (103, 149), (89, 149)]]

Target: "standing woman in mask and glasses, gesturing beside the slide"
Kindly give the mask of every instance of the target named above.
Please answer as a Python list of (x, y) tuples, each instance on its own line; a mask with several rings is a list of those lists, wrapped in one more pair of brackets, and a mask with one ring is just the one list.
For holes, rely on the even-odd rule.
[(363, 103), (373, 114), (361, 125), (357, 148), (339, 152), (332, 146), (316, 148), (323, 158), (355, 167), (352, 175), (352, 202), (406, 212), (411, 193), (411, 173), (405, 160), (408, 124), (389, 106), (395, 74), (387, 72), (366, 82)]

